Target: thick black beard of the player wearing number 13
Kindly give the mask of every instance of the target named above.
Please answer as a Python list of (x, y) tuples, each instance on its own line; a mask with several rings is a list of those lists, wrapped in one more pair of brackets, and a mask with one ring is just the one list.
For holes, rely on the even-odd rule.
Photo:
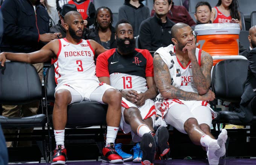
[[(125, 44), (125, 40), (129, 40), (130, 43)], [(116, 44), (118, 46), (118, 49), (123, 54), (130, 54), (135, 49), (135, 39), (134, 38), (132, 38), (132, 39), (129, 39), (129, 38), (121, 39), (121, 38), (117, 37)]]

